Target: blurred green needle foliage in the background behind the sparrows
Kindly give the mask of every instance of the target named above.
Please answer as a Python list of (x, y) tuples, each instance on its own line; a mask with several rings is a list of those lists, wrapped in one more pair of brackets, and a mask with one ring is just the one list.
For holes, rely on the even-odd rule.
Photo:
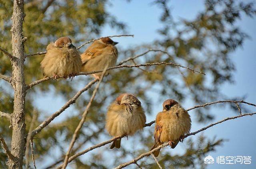
[[(128, 3), (128, 2), (124, 2)], [(28, 37), (25, 43), (25, 53), (45, 51), (50, 41), (58, 37), (69, 36), (76, 46), (93, 38), (100, 37), (100, 33), (107, 24), (121, 32), (126, 31), (126, 25), (108, 12), (108, 0), (25, 0), (23, 34)], [(195, 104), (212, 101), (223, 96), (219, 89), (223, 83), (233, 82), (235, 67), (230, 58), (230, 53), (242, 47), (244, 39), (248, 38), (245, 32), (236, 26), (236, 21), (242, 14), (253, 17), (256, 14), (254, 4), (234, 2), (232, 0), (206, 0), (205, 8), (199, 12), (194, 20), (172, 18), (168, 0), (155, 0), (154, 5), (162, 11), (158, 29), (159, 39), (152, 43), (141, 44), (133, 49), (119, 49), (118, 61), (143, 53), (149, 49), (161, 49), (170, 55), (161, 52), (149, 52), (146, 55), (128, 62), (154, 63), (173, 62), (206, 73), (206, 76), (193, 73), (187, 69), (168, 65), (142, 67), (140, 69), (115, 69), (104, 78), (101, 87), (90, 108), (86, 122), (80, 132), (78, 140), (73, 147), (71, 155), (96, 143), (110, 138), (104, 130), (105, 113), (107, 106), (122, 92), (130, 92), (143, 100), (143, 107), (147, 114), (152, 114), (152, 105), (161, 104), (162, 98), (174, 98), (179, 102), (185, 96), (191, 96)], [(12, 1), (0, 0), (0, 47), (12, 53), (11, 47), (11, 16)], [(130, 32), (132, 33), (132, 32)], [(83, 52), (84, 48), (80, 49)], [(42, 79), (42, 70), (38, 69), (44, 55), (26, 58), (25, 78), (26, 84), (37, 79)], [(12, 67), (8, 57), (0, 52), (0, 73), (11, 76)], [(91, 77), (79, 76), (73, 81), (61, 79), (47, 81), (28, 90), (26, 96), (26, 130), (30, 127), (32, 116), (38, 114), (33, 129), (40, 125), (50, 114), (57, 111), (56, 107), (51, 112), (44, 112), (38, 108), (38, 98), (52, 97), (69, 100), (74, 94), (84, 87)], [(210, 81), (211, 85), (207, 85)], [(208, 83), (209, 84), (209, 83)], [(8, 83), (0, 81), (0, 111), (12, 113), (13, 92)], [(86, 91), (76, 103), (60, 115), (58, 122), (48, 125), (34, 138), (34, 152), (37, 165), (44, 164), (52, 154), (60, 154), (55, 161), (62, 162), (66, 149), (72, 139), (72, 134), (81, 119), (81, 114), (88, 104), (94, 87)], [(152, 94), (158, 94), (159, 102), (152, 103)], [(49, 103), (50, 104), (50, 103)], [(212, 120), (214, 116), (206, 109), (197, 110), (198, 122)], [(203, 111), (203, 112), (202, 112)], [(156, 114), (156, 112), (154, 112)], [(12, 130), (10, 123), (5, 118), (0, 119), (0, 133), (4, 136), (8, 146)], [(128, 157), (136, 157), (150, 149), (153, 143), (154, 125), (144, 132), (129, 138), (140, 146), (131, 148), (123, 146), (121, 149), (109, 151), (104, 146), (98, 151), (89, 152), (81, 158), (75, 159), (73, 168), (112, 168), (121, 162), (126, 162)], [(102, 139), (104, 138), (104, 139)], [(125, 138), (123, 139), (125, 140)], [(123, 141), (122, 140), (122, 141)], [(164, 154), (159, 163), (165, 168), (204, 168), (203, 158), (215, 147), (221, 145), (223, 140), (208, 140), (200, 136), (195, 140), (185, 139), (186, 151), (183, 155), (172, 155), (169, 149), (161, 151)], [(124, 142), (124, 141), (123, 141)], [(166, 148), (167, 149), (167, 148)], [(7, 156), (0, 149), (0, 168), (6, 168)], [(111, 160), (106, 157), (111, 157)], [(30, 157), (31, 163), (31, 157)], [(50, 168), (60, 163), (49, 163)], [(141, 161), (144, 168), (157, 168), (152, 157)], [(130, 165), (135, 168), (136, 165)]]

